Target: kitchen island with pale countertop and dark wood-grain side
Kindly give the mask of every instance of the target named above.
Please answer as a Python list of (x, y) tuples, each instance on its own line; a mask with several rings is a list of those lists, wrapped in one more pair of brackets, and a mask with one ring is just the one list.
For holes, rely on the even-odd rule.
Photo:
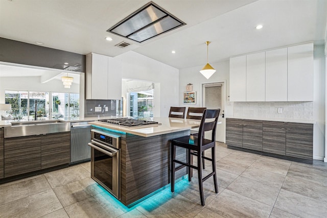
[[(159, 125), (145, 128), (127, 128), (101, 122), (89, 122), (94, 128), (111, 130), (121, 137), (120, 201), (132, 206), (140, 199), (170, 183), (170, 140), (190, 134), (200, 120), (155, 117)], [(185, 150), (176, 151), (185, 158)], [(186, 175), (179, 171), (177, 178)]]

